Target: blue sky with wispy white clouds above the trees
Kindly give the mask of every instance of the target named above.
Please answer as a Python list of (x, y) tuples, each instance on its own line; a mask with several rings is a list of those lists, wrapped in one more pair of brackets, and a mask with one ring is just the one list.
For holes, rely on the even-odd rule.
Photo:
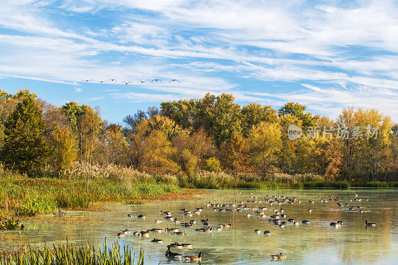
[(100, 106), (116, 123), (207, 92), (276, 109), (295, 101), (333, 119), (377, 108), (398, 122), (398, 1), (1, 2), (7, 92)]

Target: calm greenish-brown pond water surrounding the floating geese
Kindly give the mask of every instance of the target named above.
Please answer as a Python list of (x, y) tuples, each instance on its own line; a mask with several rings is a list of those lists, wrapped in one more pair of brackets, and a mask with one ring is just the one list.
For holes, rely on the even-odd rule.
[[(354, 193), (355, 191), (355, 193)], [(105, 237), (108, 243), (118, 241), (120, 245), (133, 246), (136, 253), (140, 248), (145, 251), (145, 261), (149, 264), (184, 264), (184, 261), (168, 260), (164, 253), (170, 243), (192, 243), (193, 249), (172, 249), (173, 252), (185, 255), (198, 255), (204, 253), (201, 264), (264, 264), (271, 261), (270, 255), (283, 253), (287, 258), (285, 264), (398, 264), (398, 193), (397, 189), (349, 189), (349, 190), (211, 190), (211, 194), (200, 195), (199, 200), (160, 202), (144, 205), (112, 205), (116, 211), (110, 212), (84, 212), (68, 211), (68, 215), (92, 216), (107, 218), (111, 222), (101, 225), (59, 225), (49, 223), (25, 223), (24, 237), (29, 243), (57, 243), (68, 238), (69, 242), (88, 242), (96, 244), (103, 242)], [(356, 197), (355, 194), (358, 194)], [(255, 200), (249, 196), (257, 196), (263, 200), (272, 196), (296, 197), (300, 203), (248, 203)], [(340, 197), (338, 201), (330, 200)], [(319, 198), (320, 197), (320, 198)], [(262, 219), (255, 210), (214, 211), (211, 203), (234, 203), (235, 198), (251, 208), (267, 207), (266, 219)], [(283, 197), (278, 197), (283, 199)], [(355, 199), (361, 198), (362, 201)], [(350, 199), (352, 201), (350, 201)], [(368, 199), (368, 200), (367, 200)], [(313, 204), (309, 203), (313, 200)], [(323, 200), (323, 202), (321, 202)], [(338, 206), (337, 203), (348, 203)], [(359, 209), (349, 210), (349, 206), (362, 206)], [(203, 207), (203, 211), (192, 217), (183, 215), (179, 209), (195, 210)], [(287, 221), (289, 218), (299, 221), (295, 226), (288, 223), (285, 228), (280, 228), (268, 222), (270, 215), (275, 214), (273, 209), (283, 208)], [(225, 209), (226, 207), (220, 207)], [(233, 209), (233, 207), (229, 207)], [(193, 228), (185, 228), (186, 235), (171, 235), (170, 233), (151, 232), (149, 238), (127, 235), (118, 238), (117, 227), (130, 228), (131, 232), (150, 228), (170, 227), (184, 228), (180, 224), (163, 222), (157, 224), (155, 219), (163, 216), (160, 210), (172, 211), (173, 216), (186, 222), (195, 219), (197, 223)], [(311, 209), (311, 212), (308, 211)], [(247, 217), (247, 213), (251, 217)], [(127, 218), (127, 214), (133, 217)], [(146, 218), (137, 218), (145, 214)], [(232, 228), (223, 228), (221, 231), (196, 232), (195, 229), (203, 227), (200, 219), (208, 219), (209, 226), (216, 228), (218, 224), (231, 223)], [(366, 227), (365, 220), (377, 223), (375, 227)], [(302, 220), (309, 220), (309, 224), (302, 224)], [(340, 228), (331, 227), (330, 222), (343, 221)], [(262, 232), (269, 230), (270, 236), (263, 233), (254, 233), (255, 229)], [(19, 233), (19, 232), (14, 232)], [(157, 237), (164, 239), (162, 244), (152, 243)]]

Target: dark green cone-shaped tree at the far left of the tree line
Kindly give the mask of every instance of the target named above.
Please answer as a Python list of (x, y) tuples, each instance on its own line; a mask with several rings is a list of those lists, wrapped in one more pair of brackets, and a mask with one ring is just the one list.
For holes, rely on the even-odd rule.
[(8, 168), (32, 174), (46, 164), (48, 148), (44, 141), (45, 121), (33, 97), (19, 102), (4, 123), (1, 158)]

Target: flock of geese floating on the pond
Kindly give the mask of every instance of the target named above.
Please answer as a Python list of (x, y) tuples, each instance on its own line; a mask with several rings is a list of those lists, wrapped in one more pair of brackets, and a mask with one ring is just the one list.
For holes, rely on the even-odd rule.
[[(355, 194), (355, 198), (354, 198), (355, 201), (358, 201), (358, 202), (362, 201), (361, 198), (358, 198), (358, 194), (356, 194), (355, 192), (354, 192), (354, 194)], [(319, 199), (319, 201), (321, 203), (322, 202), (336, 202), (337, 201), (336, 204), (338, 205), (338, 207), (342, 207), (344, 205), (346, 205), (346, 206), (349, 205), (348, 202), (347, 203), (340, 202), (341, 199), (349, 200), (350, 202), (352, 201), (352, 199), (347, 198), (347, 197), (331, 197), (331, 196), (329, 196), (327, 198), (322, 198), (322, 197), (318, 196), (318, 199)], [(366, 200), (368, 200), (368, 199), (366, 199)], [(264, 221), (265, 221), (265, 218), (269, 218), (268, 219), (269, 223), (273, 223), (276, 227), (284, 228), (285, 225), (288, 225), (289, 223), (294, 225), (294, 226), (307, 225), (307, 224), (310, 223), (309, 220), (302, 220), (301, 222), (298, 222), (298, 221), (295, 221), (294, 219), (291, 219), (291, 218), (287, 219), (287, 221), (285, 221), (287, 217), (286, 217), (286, 214), (284, 214), (284, 209), (283, 209), (283, 207), (281, 205), (282, 204), (300, 203), (300, 202), (301, 202), (300, 198), (296, 198), (296, 197), (289, 198), (289, 197), (281, 196), (281, 195), (273, 195), (273, 196), (267, 195), (262, 200), (259, 200), (257, 198), (257, 196), (249, 196), (249, 199), (247, 201), (245, 201), (245, 202), (240, 201), (240, 202), (229, 203), (229, 204), (223, 204), (223, 203), (214, 203), (214, 204), (212, 204), (212, 203), (209, 202), (209, 203), (206, 204), (206, 206), (207, 207), (213, 207), (213, 211), (215, 211), (215, 212), (232, 212), (232, 211), (233, 212), (242, 212), (242, 211), (246, 211), (247, 213), (245, 215), (248, 218), (253, 216), (253, 217), (258, 217), (258, 218), (264, 219)], [(314, 200), (308, 200), (308, 202), (311, 205), (311, 204), (314, 203)], [(267, 203), (267, 204), (270, 204), (270, 205), (278, 204), (281, 207), (279, 208), (279, 206), (278, 206), (275, 209), (269, 209), (269, 210), (272, 210), (271, 213), (269, 214), (269, 213), (266, 213), (266, 210), (267, 210), (266, 206), (263, 206), (263, 207), (250, 207), (250, 206), (248, 206), (248, 204), (257, 205), (259, 203), (264, 203), (264, 204)], [(348, 211), (350, 211), (350, 212), (354, 212), (355, 211), (356, 212), (355, 209), (358, 209), (359, 213), (362, 213), (362, 206), (354, 206), (354, 205), (352, 205), (351, 207), (348, 208)], [(203, 207), (196, 208), (196, 210), (187, 210), (187, 209), (184, 208), (184, 209), (180, 209), (180, 211), (183, 212), (182, 214), (183, 214), (184, 219), (185, 219), (185, 216), (187, 216), (187, 217), (192, 217), (194, 215), (200, 216), (200, 214), (204, 213)], [(311, 212), (311, 209), (308, 209), (308, 212)], [(180, 220), (177, 217), (173, 216), (171, 211), (163, 211), (163, 210), (161, 210), (160, 214), (163, 216), (163, 218), (162, 219), (155, 219), (154, 221), (155, 221), (155, 223), (159, 224), (159, 223), (162, 223), (163, 220), (166, 220), (167, 221), (167, 226), (168, 226), (167, 228), (165, 228), (165, 229), (161, 229), (161, 228), (149, 229), (149, 227), (148, 227), (148, 230), (135, 231), (132, 234), (135, 237), (147, 237), (148, 238), (148, 237), (150, 237), (150, 233), (151, 232), (162, 233), (162, 231), (165, 231), (166, 233), (171, 233), (173, 235), (182, 235), (183, 236), (183, 235), (186, 235), (185, 228), (188, 228), (190, 230), (192, 229), (191, 231), (194, 231), (193, 230), (193, 226), (195, 224), (197, 224), (196, 220), (190, 220), (189, 222), (181, 222), (182, 220)], [(174, 214), (174, 215), (176, 215), (176, 214)], [(128, 214), (127, 217), (134, 217), (134, 216), (132, 214)], [(144, 214), (140, 214), (137, 217), (141, 218), (141, 219), (145, 219), (146, 216)], [(181, 224), (184, 227), (184, 230), (183, 230), (184, 232), (180, 231), (179, 228), (171, 228), (170, 224), (169, 224), (169, 221), (170, 222), (174, 222), (175, 224)], [(198, 221), (198, 223), (199, 223), (199, 221)], [(213, 223), (213, 224), (215, 224), (215, 223), (214, 222), (210, 222), (208, 219), (204, 219), (204, 218), (200, 220), (200, 223), (201, 223), (201, 227), (200, 228), (196, 228), (195, 229), (196, 232), (213, 232), (213, 231), (221, 232), (223, 229), (233, 227), (232, 224), (218, 224), (218, 226), (216, 228), (213, 228), (213, 227), (210, 227), (210, 223)], [(335, 227), (335, 228), (339, 228), (342, 224), (343, 224), (342, 221), (337, 221), (337, 222), (331, 222), (330, 226), (331, 227)], [(365, 226), (366, 227), (376, 226), (376, 223), (368, 223), (368, 221), (365, 220)], [(122, 232), (118, 233), (118, 236), (120, 238), (131, 234), (129, 229), (125, 229), (125, 230), (121, 230), (121, 231)], [(271, 232), (269, 230), (266, 230), (266, 231), (262, 232), (260, 229), (256, 229), (254, 232), (257, 233), (257, 234), (264, 234), (265, 236), (270, 236), (271, 235)], [(155, 237), (151, 242), (153, 242), (153, 243), (162, 243), (163, 241), (164, 241), (163, 239), (158, 239), (157, 237)], [(175, 252), (172, 252), (170, 250), (170, 248), (176, 248), (176, 249), (189, 248), (189, 249), (192, 249), (192, 247), (193, 247), (193, 244), (190, 244), (190, 243), (179, 244), (178, 242), (175, 242), (175, 243), (172, 243), (172, 244), (167, 246), (167, 251), (165, 253), (165, 256), (167, 258), (169, 258), (169, 259), (177, 259), (177, 260), (184, 259), (185, 261), (195, 262), (195, 263), (196, 262), (200, 262), (201, 259), (202, 259), (202, 256), (203, 256), (202, 252), (199, 252), (198, 256), (195, 256), (195, 255), (186, 255), (186, 256), (184, 256), (183, 254), (175, 253)], [(273, 260), (284, 260), (284, 259), (286, 259), (286, 256), (284, 256), (282, 253), (280, 253), (280, 254), (271, 255), (271, 258)]]

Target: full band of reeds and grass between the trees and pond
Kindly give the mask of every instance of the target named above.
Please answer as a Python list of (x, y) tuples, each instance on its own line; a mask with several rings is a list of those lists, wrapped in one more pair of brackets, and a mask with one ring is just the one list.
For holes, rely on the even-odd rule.
[(0, 167), (0, 207), (7, 207), (16, 217), (23, 217), (40, 213), (56, 215), (58, 209), (106, 211), (109, 209), (103, 206), (108, 203), (140, 204), (157, 200), (195, 199), (195, 195), (206, 193), (201, 189), (398, 187), (398, 182), (331, 181), (313, 174), (275, 174), (264, 181), (256, 176), (202, 171), (188, 178), (146, 174), (111, 165), (92, 166), (87, 185), (87, 171), (77, 164), (76, 168), (58, 177), (28, 177)]

